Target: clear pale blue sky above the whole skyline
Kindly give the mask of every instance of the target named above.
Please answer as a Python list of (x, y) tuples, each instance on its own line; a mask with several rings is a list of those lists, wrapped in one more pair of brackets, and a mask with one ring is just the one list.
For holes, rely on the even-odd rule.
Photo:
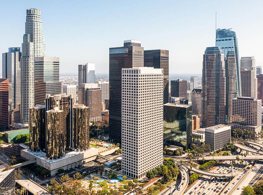
[[(109, 71), (109, 47), (127, 39), (144, 49), (169, 50), (169, 73), (201, 73), (206, 47), (215, 45), (217, 27), (233, 28), (239, 54), (263, 65), (263, 1), (2, 1), (0, 52), (21, 47), (26, 9), (41, 10), (46, 55), (60, 57), (60, 73), (96, 63)], [(2, 55), (0, 56), (2, 62)], [(2, 72), (2, 68), (0, 70)]]

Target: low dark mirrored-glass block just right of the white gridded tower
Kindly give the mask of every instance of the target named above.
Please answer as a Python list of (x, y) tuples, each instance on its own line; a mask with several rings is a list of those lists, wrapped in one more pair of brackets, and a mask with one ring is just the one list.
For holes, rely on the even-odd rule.
[(165, 104), (163, 114), (163, 144), (183, 147), (192, 144), (192, 106)]

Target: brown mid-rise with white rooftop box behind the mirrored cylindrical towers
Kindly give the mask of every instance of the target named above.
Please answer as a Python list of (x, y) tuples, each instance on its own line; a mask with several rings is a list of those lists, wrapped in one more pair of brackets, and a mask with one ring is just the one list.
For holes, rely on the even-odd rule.
[(88, 106), (90, 121), (101, 121), (102, 90), (98, 83), (82, 83), (79, 87), (79, 104)]

